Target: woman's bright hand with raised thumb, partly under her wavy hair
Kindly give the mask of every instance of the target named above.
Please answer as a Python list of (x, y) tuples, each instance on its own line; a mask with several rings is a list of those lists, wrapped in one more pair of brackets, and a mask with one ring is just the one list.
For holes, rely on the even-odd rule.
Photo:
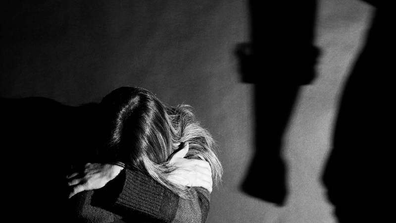
[(184, 143), (181, 150), (172, 154), (168, 165), (178, 167), (169, 174), (168, 180), (190, 187), (203, 187), (212, 192), (212, 169), (208, 162), (196, 159), (184, 159), (189, 151), (189, 143)]

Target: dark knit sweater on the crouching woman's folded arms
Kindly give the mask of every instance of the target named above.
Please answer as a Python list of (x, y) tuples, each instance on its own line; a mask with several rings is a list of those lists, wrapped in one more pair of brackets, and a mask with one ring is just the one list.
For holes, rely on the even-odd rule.
[(194, 190), (193, 199), (182, 199), (148, 175), (124, 169), (102, 189), (73, 196), (70, 221), (204, 223), (209, 192), (201, 187)]

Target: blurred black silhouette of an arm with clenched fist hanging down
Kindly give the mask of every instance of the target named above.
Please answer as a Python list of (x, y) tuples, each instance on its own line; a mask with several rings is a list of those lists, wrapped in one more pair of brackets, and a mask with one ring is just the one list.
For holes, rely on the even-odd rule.
[(314, 78), (316, 1), (250, 0), (252, 43), (238, 46), (243, 82), (254, 84), (255, 154), (242, 190), (277, 205), (286, 196), (282, 136), (300, 85)]

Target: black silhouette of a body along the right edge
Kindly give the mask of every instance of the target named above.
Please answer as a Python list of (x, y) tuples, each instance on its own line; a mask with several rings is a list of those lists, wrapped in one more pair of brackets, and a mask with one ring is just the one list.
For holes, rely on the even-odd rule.
[(385, 222), (392, 213), (395, 18), (384, 2), (376, 1), (366, 46), (347, 80), (323, 175), (341, 223)]

